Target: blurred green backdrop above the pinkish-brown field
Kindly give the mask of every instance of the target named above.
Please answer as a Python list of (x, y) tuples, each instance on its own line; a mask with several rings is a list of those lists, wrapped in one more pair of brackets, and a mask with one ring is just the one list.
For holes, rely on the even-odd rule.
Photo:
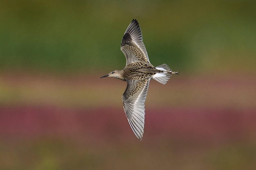
[(122, 69), (121, 38), (136, 18), (153, 65), (183, 73), (251, 73), (256, 3), (234, 1), (0, 2), (1, 71), (85, 73)]

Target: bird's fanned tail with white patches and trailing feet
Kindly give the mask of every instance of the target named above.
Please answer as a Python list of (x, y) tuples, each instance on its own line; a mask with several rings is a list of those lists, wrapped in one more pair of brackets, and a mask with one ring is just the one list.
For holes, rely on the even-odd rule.
[(157, 82), (162, 83), (162, 84), (166, 84), (167, 81), (169, 80), (169, 78), (171, 77), (171, 75), (179, 73), (179, 72), (171, 71), (169, 66), (167, 66), (166, 64), (162, 64), (160, 66), (157, 66), (156, 69), (159, 70), (159, 72), (156, 73), (155, 75), (153, 75), (152, 78), (155, 79)]

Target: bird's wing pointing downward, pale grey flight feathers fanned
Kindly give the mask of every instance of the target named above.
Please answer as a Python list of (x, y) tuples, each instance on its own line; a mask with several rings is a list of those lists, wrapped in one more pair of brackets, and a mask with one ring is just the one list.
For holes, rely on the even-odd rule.
[(128, 79), (122, 95), (124, 112), (136, 137), (141, 140), (144, 132), (145, 100), (150, 79)]

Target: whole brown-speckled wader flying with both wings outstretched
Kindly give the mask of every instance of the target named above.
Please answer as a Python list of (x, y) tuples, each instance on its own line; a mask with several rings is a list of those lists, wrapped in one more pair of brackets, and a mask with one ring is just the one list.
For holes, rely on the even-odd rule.
[(141, 29), (136, 19), (132, 20), (124, 33), (121, 51), (126, 57), (124, 69), (111, 71), (101, 78), (115, 77), (127, 82), (126, 90), (122, 95), (124, 112), (132, 131), (141, 141), (144, 133), (144, 106), (150, 79), (166, 84), (171, 75), (179, 72), (171, 71), (166, 64), (154, 67), (149, 62)]

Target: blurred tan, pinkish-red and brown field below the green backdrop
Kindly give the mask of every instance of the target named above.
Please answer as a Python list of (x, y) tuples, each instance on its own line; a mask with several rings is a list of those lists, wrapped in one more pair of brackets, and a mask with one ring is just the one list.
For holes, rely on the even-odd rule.
[[(252, 170), (252, 77), (150, 82), (142, 141), (113, 78), (0, 76), (0, 169)], [(93, 83), (92, 83), (93, 82)]]

